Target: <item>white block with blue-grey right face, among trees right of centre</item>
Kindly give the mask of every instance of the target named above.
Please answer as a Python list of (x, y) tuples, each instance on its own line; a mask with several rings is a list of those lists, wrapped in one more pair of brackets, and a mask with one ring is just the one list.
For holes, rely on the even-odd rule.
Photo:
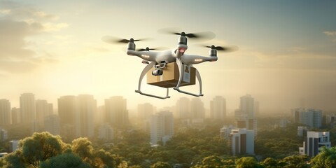
[(232, 130), (230, 133), (232, 155), (254, 155), (254, 131), (246, 129)]

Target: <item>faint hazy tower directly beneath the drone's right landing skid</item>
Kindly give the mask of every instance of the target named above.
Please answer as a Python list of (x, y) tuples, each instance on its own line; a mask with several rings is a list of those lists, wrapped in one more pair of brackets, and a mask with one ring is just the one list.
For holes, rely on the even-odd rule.
[(181, 97), (176, 102), (176, 111), (174, 117), (181, 119), (190, 119), (191, 102), (187, 97)]

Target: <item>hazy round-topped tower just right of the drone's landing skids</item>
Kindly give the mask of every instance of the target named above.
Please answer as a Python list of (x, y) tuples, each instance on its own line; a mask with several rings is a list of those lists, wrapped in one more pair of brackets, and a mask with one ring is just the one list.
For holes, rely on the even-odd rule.
[(224, 120), (226, 117), (226, 102), (221, 96), (216, 96), (210, 101), (210, 118)]

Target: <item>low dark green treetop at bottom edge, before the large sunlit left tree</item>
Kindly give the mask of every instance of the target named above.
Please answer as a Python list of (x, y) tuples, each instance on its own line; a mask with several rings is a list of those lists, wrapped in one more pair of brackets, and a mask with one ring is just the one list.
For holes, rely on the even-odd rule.
[(41, 162), (41, 168), (49, 167), (90, 168), (91, 166), (87, 162), (83, 162), (83, 160), (79, 156), (73, 153), (63, 153), (61, 155), (50, 158), (50, 160)]

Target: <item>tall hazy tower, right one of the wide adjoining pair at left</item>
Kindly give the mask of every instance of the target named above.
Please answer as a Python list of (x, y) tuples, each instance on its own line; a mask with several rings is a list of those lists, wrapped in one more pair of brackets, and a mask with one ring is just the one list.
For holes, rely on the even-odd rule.
[(78, 114), (79, 114), (79, 137), (93, 137), (94, 129), (94, 113), (97, 112), (97, 101), (92, 95), (80, 94), (78, 99)]

